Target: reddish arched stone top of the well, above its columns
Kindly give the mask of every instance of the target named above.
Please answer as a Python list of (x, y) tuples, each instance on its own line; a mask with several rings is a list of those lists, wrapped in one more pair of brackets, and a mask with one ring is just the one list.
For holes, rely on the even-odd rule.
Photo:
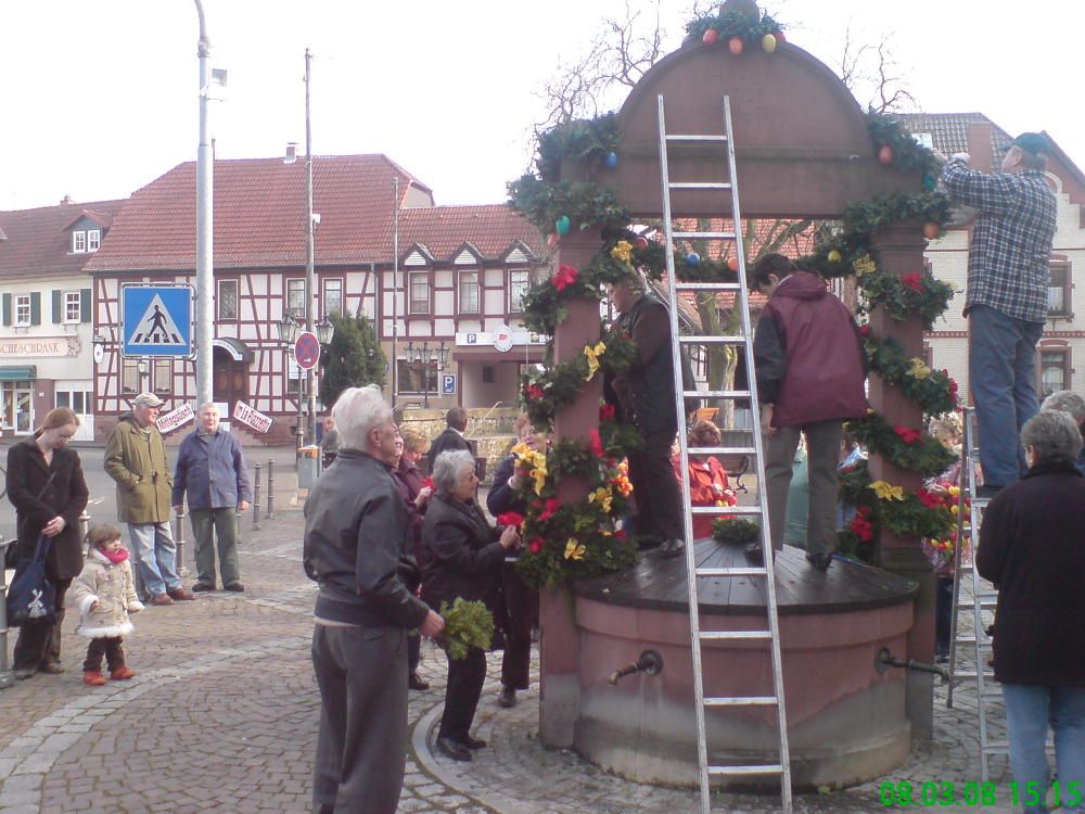
[[(600, 169), (624, 206), (659, 217), (662, 191), (656, 98), (663, 94), (668, 133), (722, 135), (730, 98), (743, 217), (837, 218), (853, 201), (921, 185), (882, 166), (863, 111), (825, 64), (788, 42), (771, 54), (725, 42), (689, 42), (653, 66), (618, 116), (618, 164)], [(726, 180), (718, 143), (672, 147), (672, 180)], [(572, 167), (571, 173), (575, 173)], [(675, 215), (720, 216), (718, 191), (674, 195)], [(729, 206), (729, 200), (727, 201)]]

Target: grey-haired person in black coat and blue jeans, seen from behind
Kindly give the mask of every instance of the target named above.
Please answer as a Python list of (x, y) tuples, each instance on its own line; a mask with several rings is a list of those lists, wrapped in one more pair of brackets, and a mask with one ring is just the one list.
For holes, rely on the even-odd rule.
[[(1055, 730), (1062, 811), (1085, 793), (1085, 479), (1074, 467), (1082, 436), (1059, 410), (1021, 429), (1025, 476), (983, 512), (975, 567), (998, 587), (995, 679), (1009, 725), (1010, 768), (1025, 811), (1047, 812), (1045, 742)], [(1077, 790), (1077, 804), (1069, 794)], [(1033, 790), (1038, 793), (1033, 794)], [(1033, 800), (1030, 802), (1030, 796)]]

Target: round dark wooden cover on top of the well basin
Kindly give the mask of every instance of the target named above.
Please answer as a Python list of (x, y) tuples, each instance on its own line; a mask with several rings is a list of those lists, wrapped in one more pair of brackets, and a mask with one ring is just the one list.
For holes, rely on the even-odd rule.
[[(748, 568), (742, 546), (701, 540), (694, 548), (699, 568)], [(777, 607), (780, 615), (847, 613), (909, 601), (918, 585), (888, 571), (837, 558), (827, 573), (815, 570), (805, 551), (784, 546), (776, 557)], [(687, 612), (686, 558), (665, 559), (659, 551), (642, 556), (633, 570), (578, 583), (576, 595), (630, 608)], [(745, 615), (763, 613), (763, 577), (701, 580), (702, 612)]]

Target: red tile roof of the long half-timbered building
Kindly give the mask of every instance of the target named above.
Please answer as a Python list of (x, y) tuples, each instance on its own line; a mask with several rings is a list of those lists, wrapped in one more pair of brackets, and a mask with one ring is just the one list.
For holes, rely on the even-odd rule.
[[(195, 164), (187, 162), (137, 191), (117, 216), (110, 240), (88, 268), (93, 271), (193, 269), (195, 176)], [(393, 179), (397, 176), (403, 206), (408, 201), (417, 203), (419, 198), (432, 203), (430, 188), (385, 155), (314, 156), (312, 211), (320, 215), (316, 230), (317, 266), (392, 260)], [(217, 161), (214, 199), (215, 268), (305, 265), (304, 161), (293, 164), (283, 164), (281, 158)], [(475, 213), (478, 217), (474, 217)], [(401, 208), (399, 247), (403, 252), (418, 240), (432, 244), (431, 251), (441, 257), (452, 244), (459, 246), (470, 241), (489, 249), (508, 238), (508, 243), (499, 250), (503, 253), (513, 240), (523, 240), (529, 229), (508, 207)], [(535, 240), (533, 245), (537, 244)], [(447, 249), (446, 253), (450, 252)]]

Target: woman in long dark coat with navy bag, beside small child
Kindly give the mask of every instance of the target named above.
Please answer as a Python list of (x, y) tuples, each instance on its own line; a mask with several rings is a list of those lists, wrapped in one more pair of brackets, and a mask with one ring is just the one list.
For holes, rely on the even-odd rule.
[(87, 508), (87, 482), (79, 454), (67, 442), (79, 419), (67, 407), (58, 407), (33, 437), (8, 449), (8, 499), (15, 507), (18, 558), (34, 556), (39, 537), (52, 539), (46, 576), (56, 588), (53, 622), (27, 623), (18, 631), (12, 674), (23, 681), (42, 673), (63, 673), (61, 625), (64, 594), (82, 571), (79, 516)]

